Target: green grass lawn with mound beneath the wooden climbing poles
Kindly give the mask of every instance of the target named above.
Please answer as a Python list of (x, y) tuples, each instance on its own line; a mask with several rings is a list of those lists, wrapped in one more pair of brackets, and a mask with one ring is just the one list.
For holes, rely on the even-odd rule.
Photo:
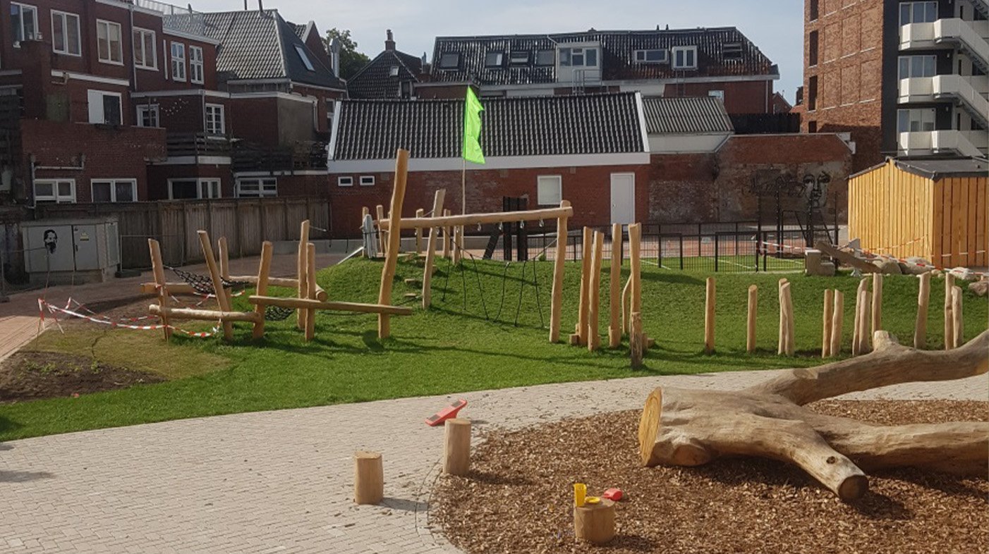
[[(405, 284), (404, 279), (421, 278), (419, 264), (400, 262), (395, 303), (418, 305), (418, 299), (405, 298), (405, 293), (416, 291), (417, 286)], [(532, 285), (533, 269), (538, 275), (538, 294)], [(316, 338), (309, 344), (296, 329), (295, 317), (269, 322), (267, 335), (259, 343), (251, 342), (247, 326), (235, 325), (235, 341), (230, 345), (218, 339), (181, 337), (166, 344), (160, 333), (107, 330), (82, 323), (64, 335), (50, 330), (29, 349), (85, 353), (100, 361), (159, 373), (171, 380), (79, 398), (2, 405), (0, 440), (539, 383), (814, 365), (821, 361), (822, 291), (826, 287), (838, 287), (846, 293), (846, 354), (851, 341), (857, 279), (786, 276), (793, 283), (798, 353), (785, 357), (775, 356), (776, 280), (780, 275), (718, 274), (717, 352), (704, 355), (705, 276), (644, 265), (645, 331), (657, 340), (657, 348), (647, 354), (645, 368), (632, 370), (625, 347), (590, 354), (586, 349), (562, 343), (550, 345), (544, 324), (549, 324), (552, 264), (525, 265), (528, 284), (524, 287), (521, 270), (522, 265), (517, 263), (505, 266), (500, 262), (477, 262), (475, 266), (468, 261), (462, 272), (439, 261), (433, 277), (433, 308), (423, 311), (416, 307), (410, 317), (393, 317), (392, 338), (384, 342), (377, 338), (376, 316), (329, 312), (317, 312)], [(625, 270), (623, 276), (627, 276)], [(380, 262), (358, 259), (321, 271), (319, 282), (331, 298), (374, 302), (380, 276)], [(600, 310), (605, 344), (607, 281), (605, 272)], [(568, 264), (564, 338), (577, 319), (579, 282), (579, 267)], [(752, 283), (760, 286), (760, 351), (748, 355), (746, 295)], [(943, 283), (942, 279), (933, 281), (929, 348), (943, 345)], [(915, 277), (885, 280), (884, 327), (902, 342), (909, 342), (913, 336), (917, 288)], [(235, 299), (234, 308), (248, 309), (244, 297)], [(965, 336), (971, 338), (986, 327), (987, 301), (966, 289), (964, 309)]]

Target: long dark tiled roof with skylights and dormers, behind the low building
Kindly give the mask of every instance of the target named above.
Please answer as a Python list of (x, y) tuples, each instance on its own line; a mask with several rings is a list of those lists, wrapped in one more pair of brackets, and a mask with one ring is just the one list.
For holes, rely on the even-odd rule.
[[(772, 76), (779, 73), (775, 65), (734, 27), (682, 29), (668, 31), (587, 31), (557, 35), (514, 35), (489, 37), (439, 37), (433, 48), (431, 80), (474, 82), (479, 85), (528, 85), (556, 82), (555, 65), (535, 64), (535, 52), (553, 50), (558, 43), (599, 41), (601, 44), (601, 78), (614, 80), (670, 79), (674, 77), (716, 77), (740, 75)], [(675, 70), (671, 63), (637, 63), (635, 50), (665, 49), (672, 58), (673, 46), (697, 46), (697, 69)], [(732, 45), (726, 53), (726, 45)], [(500, 68), (485, 67), (485, 54), (513, 51), (529, 52), (523, 65), (505, 63)], [(459, 53), (457, 69), (440, 69), (443, 53)]]

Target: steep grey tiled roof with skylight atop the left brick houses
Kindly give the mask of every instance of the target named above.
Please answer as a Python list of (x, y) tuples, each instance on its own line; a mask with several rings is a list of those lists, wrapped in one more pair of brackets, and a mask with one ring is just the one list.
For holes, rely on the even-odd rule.
[[(288, 78), (320, 87), (345, 88), (299, 38), (297, 26), (282, 19), (278, 10), (211, 12), (203, 16), (206, 36), (220, 41), (217, 74), (221, 82)], [(165, 16), (172, 27), (181, 25), (181, 18)], [(307, 52), (315, 71), (306, 68), (296, 51), (297, 45)]]

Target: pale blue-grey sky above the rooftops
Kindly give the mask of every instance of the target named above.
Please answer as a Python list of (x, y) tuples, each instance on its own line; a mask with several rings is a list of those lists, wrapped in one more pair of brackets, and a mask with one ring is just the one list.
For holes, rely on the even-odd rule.
[[(185, 5), (187, 0), (176, 4)], [(369, 57), (385, 46), (385, 30), (397, 48), (430, 61), (436, 37), (523, 35), (597, 30), (695, 27), (739, 28), (779, 64), (773, 85), (793, 103), (803, 81), (803, 2), (801, 0), (263, 0), (294, 23), (315, 21), (320, 32), (349, 29), (357, 49)], [(247, 0), (252, 9), (258, 0)], [(203, 12), (242, 10), (244, 0), (193, 0)]]

